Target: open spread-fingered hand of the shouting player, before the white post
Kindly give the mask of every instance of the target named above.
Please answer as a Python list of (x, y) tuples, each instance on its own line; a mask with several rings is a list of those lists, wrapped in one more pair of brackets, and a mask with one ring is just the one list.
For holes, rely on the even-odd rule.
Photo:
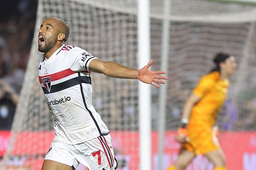
[(165, 84), (165, 82), (162, 81), (161, 79), (166, 80), (167, 77), (158, 76), (158, 74), (166, 74), (166, 72), (149, 70), (149, 67), (152, 65), (152, 63), (153, 63), (153, 60), (151, 59), (147, 65), (145, 65), (143, 68), (140, 69), (138, 79), (142, 82), (145, 82), (147, 84), (151, 84), (157, 88), (160, 88), (160, 85), (157, 85), (156, 82)]

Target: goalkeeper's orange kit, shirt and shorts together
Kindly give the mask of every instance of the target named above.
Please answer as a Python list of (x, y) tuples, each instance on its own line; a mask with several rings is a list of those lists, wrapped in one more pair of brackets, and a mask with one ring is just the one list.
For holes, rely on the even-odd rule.
[(219, 148), (212, 139), (212, 127), (226, 99), (228, 87), (229, 81), (222, 80), (219, 73), (214, 71), (203, 76), (193, 90), (201, 99), (192, 108), (187, 125), (190, 140), (183, 144), (187, 150), (204, 154)]

